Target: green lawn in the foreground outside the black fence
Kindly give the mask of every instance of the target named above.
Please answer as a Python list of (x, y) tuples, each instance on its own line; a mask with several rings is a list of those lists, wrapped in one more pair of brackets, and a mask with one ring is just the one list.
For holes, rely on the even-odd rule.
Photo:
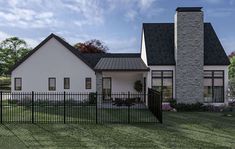
[(235, 113), (164, 113), (163, 124), (4, 124), (0, 148), (235, 148)]

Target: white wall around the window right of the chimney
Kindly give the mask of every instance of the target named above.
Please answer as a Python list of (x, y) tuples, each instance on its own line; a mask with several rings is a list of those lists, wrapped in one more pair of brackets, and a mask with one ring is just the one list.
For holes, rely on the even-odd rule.
[[(204, 66), (204, 70), (224, 70), (224, 103), (228, 103), (228, 66)], [(212, 103), (213, 105), (221, 105), (221, 103)]]

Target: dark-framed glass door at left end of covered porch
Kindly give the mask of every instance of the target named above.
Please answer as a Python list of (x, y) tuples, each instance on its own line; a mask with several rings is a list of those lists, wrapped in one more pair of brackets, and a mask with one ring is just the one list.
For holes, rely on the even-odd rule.
[(111, 99), (111, 77), (104, 77), (102, 84), (103, 100), (108, 101)]

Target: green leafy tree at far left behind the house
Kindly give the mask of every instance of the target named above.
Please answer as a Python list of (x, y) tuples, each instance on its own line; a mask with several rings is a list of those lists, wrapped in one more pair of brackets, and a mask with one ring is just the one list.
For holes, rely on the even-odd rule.
[(18, 37), (11, 37), (2, 41), (0, 43), (0, 61), (2, 65), (0, 75), (5, 75), (30, 50), (31, 48), (28, 48), (27, 43)]

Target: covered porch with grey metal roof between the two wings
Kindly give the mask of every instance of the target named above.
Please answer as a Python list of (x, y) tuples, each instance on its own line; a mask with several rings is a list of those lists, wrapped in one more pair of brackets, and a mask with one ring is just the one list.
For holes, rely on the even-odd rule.
[[(98, 94), (103, 95), (101, 101), (124, 99), (122, 94), (129, 93), (134, 98), (139, 96), (138, 94), (146, 93), (145, 76), (149, 68), (139, 57), (102, 58), (95, 66), (95, 70), (96, 90)], [(140, 84), (141, 90), (137, 90), (135, 84)]]

